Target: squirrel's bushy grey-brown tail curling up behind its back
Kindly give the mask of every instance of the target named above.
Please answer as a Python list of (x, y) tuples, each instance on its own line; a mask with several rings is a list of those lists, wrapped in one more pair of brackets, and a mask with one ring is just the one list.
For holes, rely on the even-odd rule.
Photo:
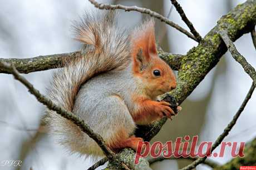
[[(66, 110), (73, 110), (77, 92), (88, 79), (102, 72), (123, 69), (130, 62), (128, 37), (117, 27), (115, 12), (100, 13), (86, 13), (75, 23), (76, 39), (84, 43), (85, 48), (78, 58), (63, 61), (63, 68), (53, 72), (48, 89), (50, 99)], [(73, 123), (51, 110), (47, 110), (47, 114), (50, 131), (60, 135), (62, 144), (70, 146), (70, 140), (81, 142), (80, 130)]]

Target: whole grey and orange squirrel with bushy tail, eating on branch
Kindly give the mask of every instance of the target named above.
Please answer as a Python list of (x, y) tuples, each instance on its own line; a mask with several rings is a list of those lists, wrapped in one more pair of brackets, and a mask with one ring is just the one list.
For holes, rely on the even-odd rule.
[[(53, 72), (50, 99), (80, 117), (114, 152), (136, 151), (142, 138), (132, 135), (147, 125), (175, 115), (157, 96), (176, 87), (170, 66), (157, 56), (154, 20), (131, 33), (117, 27), (116, 12), (86, 13), (75, 25), (81, 55)], [(71, 153), (103, 156), (95, 141), (55, 111), (46, 110), (50, 132)]]

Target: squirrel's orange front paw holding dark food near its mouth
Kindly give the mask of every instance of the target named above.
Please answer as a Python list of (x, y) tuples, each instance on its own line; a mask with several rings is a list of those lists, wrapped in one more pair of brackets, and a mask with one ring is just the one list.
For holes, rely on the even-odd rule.
[(160, 118), (166, 116), (172, 120), (171, 116), (175, 116), (175, 112), (171, 109), (169, 102), (166, 101), (157, 102), (154, 110)]

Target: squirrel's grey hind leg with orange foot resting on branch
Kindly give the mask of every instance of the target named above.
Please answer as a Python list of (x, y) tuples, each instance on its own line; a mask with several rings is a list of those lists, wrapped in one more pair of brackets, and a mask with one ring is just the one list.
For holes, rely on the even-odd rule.
[(104, 110), (99, 113), (104, 113), (106, 119), (102, 119), (104, 121), (100, 122), (99, 133), (106, 141), (107, 146), (114, 152), (125, 147), (136, 150), (137, 144), (142, 141), (142, 138), (132, 136), (136, 127), (135, 122), (121, 97), (116, 95), (106, 97), (101, 103), (101, 109), (103, 108)]

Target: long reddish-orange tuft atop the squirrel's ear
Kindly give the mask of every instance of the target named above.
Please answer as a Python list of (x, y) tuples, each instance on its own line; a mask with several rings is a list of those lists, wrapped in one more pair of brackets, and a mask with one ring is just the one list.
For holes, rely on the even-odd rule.
[(131, 34), (132, 56), (136, 57), (139, 49), (146, 59), (157, 54), (154, 25), (154, 19), (149, 19)]

